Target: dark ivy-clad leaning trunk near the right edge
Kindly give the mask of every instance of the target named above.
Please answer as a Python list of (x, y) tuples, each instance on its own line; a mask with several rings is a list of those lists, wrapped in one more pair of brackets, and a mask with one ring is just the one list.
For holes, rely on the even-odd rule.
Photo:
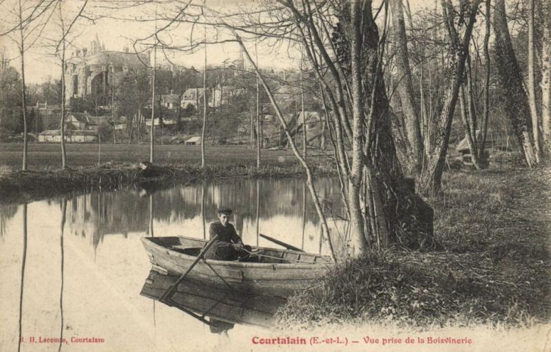
[(522, 152), (528, 167), (537, 164), (534, 146), (532, 144), (532, 123), (528, 96), (523, 89), (521, 70), (512, 48), (511, 37), (507, 24), (505, 0), (495, 1), (494, 32), (497, 76), (502, 96), (503, 110), (508, 116), (522, 147)]

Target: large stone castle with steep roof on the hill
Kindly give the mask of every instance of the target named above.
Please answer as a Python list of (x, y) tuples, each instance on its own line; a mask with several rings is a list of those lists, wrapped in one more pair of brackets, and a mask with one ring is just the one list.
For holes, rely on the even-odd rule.
[(129, 69), (145, 69), (146, 65), (148, 54), (136, 54), (127, 48), (122, 52), (105, 50), (96, 35), (90, 49), (75, 50), (65, 63), (65, 101), (68, 105), (70, 98), (109, 94)]

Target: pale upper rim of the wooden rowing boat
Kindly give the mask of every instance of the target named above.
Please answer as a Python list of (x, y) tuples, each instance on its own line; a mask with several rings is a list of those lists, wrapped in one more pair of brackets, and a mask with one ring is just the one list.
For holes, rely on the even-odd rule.
[[(200, 238), (191, 238), (191, 237), (185, 237), (185, 236), (165, 236), (165, 237), (171, 237), (171, 238), (186, 238), (189, 240), (196, 240), (199, 242), (205, 242), (207, 243), (207, 240), (202, 240)], [(191, 256), (186, 253), (181, 253), (179, 251), (175, 251), (174, 249), (164, 247), (163, 245), (160, 245), (152, 240), (153, 237), (142, 237), (141, 240), (143, 244), (145, 245), (146, 251), (150, 252), (150, 250), (147, 248), (148, 246), (156, 247), (158, 250), (164, 250), (169, 251), (171, 256), (177, 256), (181, 259), (184, 259), (189, 262), (193, 262), (197, 257)], [(163, 237), (154, 237), (154, 238), (163, 238)], [(268, 249), (273, 250), (273, 248), (269, 247), (255, 247), (258, 249)], [(276, 249), (280, 250), (280, 249)], [(300, 252), (300, 251), (292, 251), (290, 249), (281, 249), (281, 251), (287, 251), (289, 253), (297, 253), (297, 254), (308, 254), (309, 256), (318, 256), (322, 258), (330, 258), (329, 256), (321, 256), (313, 253), (307, 253), (307, 252)], [(203, 259), (203, 261), (209, 265), (218, 265), (220, 267), (238, 267), (238, 268), (250, 268), (250, 269), (312, 269), (312, 267), (330, 267), (333, 264), (333, 261), (329, 262), (289, 262), (289, 263), (258, 263), (258, 262), (237, 262), (233, 260), (216, 260), (216, 259)]]

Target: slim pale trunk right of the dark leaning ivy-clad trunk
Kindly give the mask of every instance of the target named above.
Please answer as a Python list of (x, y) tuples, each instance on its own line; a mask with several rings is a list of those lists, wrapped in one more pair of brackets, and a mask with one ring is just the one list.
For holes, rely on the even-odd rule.
[(534, 79), (534, 0), (528, 0), (528, 104), (532, 118), (532, 138), (534, 140), (534, 154), (536, 163), (541, 157), (539, 120), (536, 108), (536, 83)]

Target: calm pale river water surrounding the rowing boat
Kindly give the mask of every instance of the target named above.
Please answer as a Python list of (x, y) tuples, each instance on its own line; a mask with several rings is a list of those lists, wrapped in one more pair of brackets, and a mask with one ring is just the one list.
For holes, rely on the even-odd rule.
[[(316, 184), (326, 213), (340, 214), (338, 183), (327, 178)], [(264, 327), (249, 325), (254, 322), (247, 315), (247, 324), (236, 324), (227, 335), (211, 333), (196, 316), (143, 295), (144, 284), (152, 281), (140, 238), (208, 237), (216, 209), (227, 206), (234, 210), (232, 222), (245, 243), (277, 247), (259, 239), (262, 233), (305, 251), (327, 253), (309, 197), (304, 180), (233, 180), (154, 193), (131, 189), (0, 205), (0, 350), (17, 351), (20, 321), (22, 351), (57, 351), (58, 343), (38, 341), (59, 338), (61, 332), (68, 342), (61, 346), (64, 351), (251, 348), (254, 335), (267, 334), (271, 304), (254, 297), (233, 299), (229, 306), (224, 301), (218, 306), (252, 307), (254, 314), (260, 304)], [(343, 229), (337, 220), (331, 220), (331, 227), (335, 234)], [(220, 297), (207, 299), (218, 302)], [(214, 317), (220, 315), (213, 313), (216, 305), (209, 311)], [(72, 338), (103, 342), (72, 343)]]

